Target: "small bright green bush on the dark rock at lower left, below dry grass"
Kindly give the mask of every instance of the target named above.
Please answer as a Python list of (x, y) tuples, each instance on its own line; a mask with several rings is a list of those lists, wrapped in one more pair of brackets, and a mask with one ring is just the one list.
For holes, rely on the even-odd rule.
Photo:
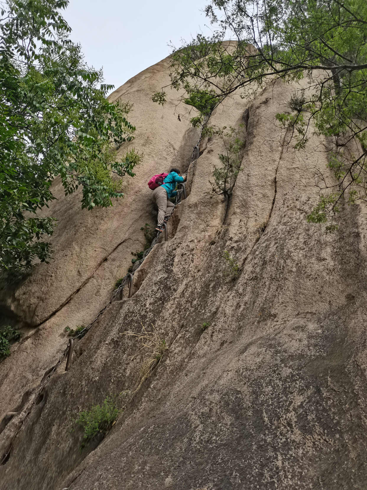
[(82, 451), (98, 432), (107, 432), (117, 420), (121, 410), (117, 408), (116, 396), (108, 395), (102, 405), (92, 405), (90, 411), (79, 412), (79, 417), (73, 419), (77, 424), (84, 426), (84, 442), (80, 447)]

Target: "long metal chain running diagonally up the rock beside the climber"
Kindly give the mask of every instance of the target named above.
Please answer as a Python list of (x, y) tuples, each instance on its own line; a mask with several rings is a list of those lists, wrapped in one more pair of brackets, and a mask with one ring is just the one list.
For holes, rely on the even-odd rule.
[[(208, 115), (208, 120), (210, 118), (210, 115), (211, 113)], [(206, 117), (204, 119), (204, 123), (202, 125), (202, 130), (200, 132), (200, 136), (199, 136), (199, 140), (198, 140), (198, 143), (197, 143), (197, 147), (199, 147), (199, 144), (200, 144), (200, 141), (201, 141), (201, 137), (202, 137), (202, 134), (203, 134), (203, 130), (204, 130), (204, 127), (205, 127), (205, 124), (206, 124)], [(190, 161), (190, 164), (193, 162), (193, 158), (194, 158), (194, 153), (195, 153), (195, 147), (192, 151), (192, 156), (191, 156), (191, 161)], [(186, 172), (186, 175), (187, 175), (187, 172)], [(173, 212), (175, 211), (176, 209), (176, 206), (178, 206), (180, 204), (179, 202), (179, 199), (181, 197), (181, 194), (182, 194), (182, 191), (180, 193), (180, 191), (177, 193), (177, 196), (176, 196), (176, 200), (175, 200), (175, 204), (173, 206), (173, 208), (171, 209), (171, 212), (170, 214), (168, 215), (167, 219), (165, 220), (165, 222), (167, 222)], [(140, 265), (142, 264), (142, 262), (145, 260), (145, 258), (147, 257), (147, 255), (152, 251), (152, 249), (154, 248), (154, 246), (156, 245), (158, 239), (160, 238), (161, 236), (161, 232), (158, 232), (157, 233), (157, 236), (154, 238), (152, 244), (150, 245), (150, 247), (144, 252), (144, 255), (143, 255), (143, 258), (140, 259), (139, 261), (139, 264), (138, 264), (138, 267), (140, 267)], [(138, 269), (138, 268), (137, 268)], [(136, 270), (137, 270), (136, 269)], [(134, 275), (134, 273), (136, 272), (136, 270), (132, 273)], [(95, 317), (95, 319), (89, 324), (87, 325), (86, 327), (83, 328), (83, 330), (81, 330), (78, 335), (76, 335), (75, 337), (71, 337), (73, 340), (76, 340), (78, 338), (81, 338), (81, 337), (84, 337), (84, 335), (89, 332), (89, 330), (92, 328), (93, 324), (97, 321), (97, 319), (103, 315), (103, 313), (107, 310), (107, 308), (110, 306), (111, 303), (113, 303), (113, 301), (115, 300), (115, 297), (116, 295), (123, 289), (123, 287), (125, 286), (126, 284), (126, 281), (127, 281), (127, 278), (128, 278), (128, 275), (126, 275), (124, 278), (123, 278), (123, 281), (121, 282), (121, 284), (118, 286), (118, 288), (116, 289), (115, 291), (115, 294), (111, 297), (110, 301), (106, 304), (106, 306), (104, 308), (102, 308), (102, 310), (100, 310), (100, 312), (98, 313), (98, 315)], [(37, 392), (37, 394), (35, 394), (34, 398), (33, 398), (33, 401), (30, 405), (30, 407), (28, 408), (27, 412), (24, 414), (22, 420), (19, 421), (18, 423), (18, 427), (13, 435), (13, 437), (11, 438), (11, 440), (9, 441), (9, 444), (8, 446), (6, 447), (6, 450), (4, 452), (4, 454), (2, 455), (1, 457), (1, 460), (0, 460), (0, 465), (4, 464), (6, 462), (6, 458), (8, 457), (8, 455), (10, 454), (10, 451), (11, 451), (11, 448), (13, 447), (13, 442), (15, 440), (15, 438), (17, 437), (17, 435), (19, 434), (20, 430), (22, 429), (23, 427), (23, 423), (24, 423), (24, 420), (26, 419), (26, 417), (28, 417), (28, 415), (32, 412), (32, 410), (34, 409), (34, 407), (36, 406), (37, 404), (37, 401), (41, 395), (41, 392), (43, 391), (43, 389), (45, 388), (46, 384), (48, 383), (48, 381), (51, 379), (52, 375), (56, 372), (57, 368), (60, 366), (60, 364), (63, 362), (63, 359), (68, 355), (69, 353), (69, 346), (70, 346), (70, 343), (68, 343), (66, 349), (64, 350), (64, 352), (60, 355), (57, 363), (55, 364), (55, 366), (51, 369), (51, 371), (47, 374), (46, 378), (41, 381), (40, 383), (40, 387), (39, 387), (39, 390)]]

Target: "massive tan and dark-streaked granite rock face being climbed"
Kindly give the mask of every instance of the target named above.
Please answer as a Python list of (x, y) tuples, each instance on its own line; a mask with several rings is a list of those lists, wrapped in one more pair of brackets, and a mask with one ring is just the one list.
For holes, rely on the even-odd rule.
[[(163, 108), (150, 100), (167, 70), (163, 60), (111, 96), (134, 102), (134, 146), (145, 154), (126, 198), (81, 212), (55, 182), (55, 260), (2, 293), (7, 317), (29, 331), (1, 363), (1, 454), (26, 393), (66, 346), (64, 327), (94, 318), (141, 249), (140, 227), (155, 224), (147, 181), (172, 164), (188, 168), (198, 139), (189, 108), (174, 92)], [(112, 304), (70, 370), (64, 363), (46, 385), (0, 466), (1, 490), (367, 488), (366, 206), (345, 206), (333, 235), (307, 224), (327, 142), (314, 136), (294, 151), (276, 123), (296, 88), (271, 82), (214, 111), (211, 125), (244, 126), (229, 206), (209, 194), (225, 151), (212, 137), (188, 169), (168, 242), (136, 271), (133, 297)], [(225, 250), (240, 267), (235, 279), (223, 276)], [(123, 332), (141, 324), (169, 349), (106, 437), (80, 453), (70, 418), (133, 390), (145, 353)]]

